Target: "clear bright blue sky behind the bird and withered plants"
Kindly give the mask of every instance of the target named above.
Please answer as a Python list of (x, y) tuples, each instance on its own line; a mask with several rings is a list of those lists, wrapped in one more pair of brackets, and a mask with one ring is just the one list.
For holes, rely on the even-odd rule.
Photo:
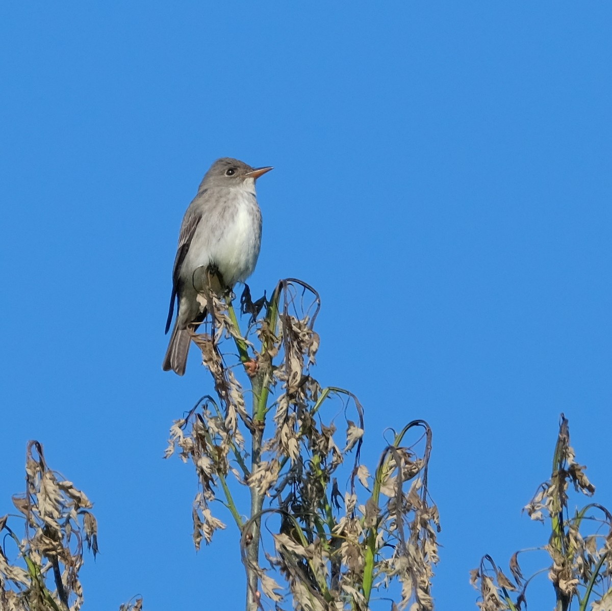
[[(236, 532), (195, 554), (161, 369), (179, 224), (211, 162), (258, 181), (253, 293), (318, 289), (315, 374), (433, 428), (437, 609), (547, 531), (521, 516), (559, 413), (612, 506), (612, 5), (46, 2), (0, 7), (0, 515), (26, 442), (95, 502), (86, 608), (242, 605)], [(534, 567), (545, 564), (534, 561)], [(545, 576), (528, 597), (550, 608)], [(384, 605), (386, 609), (386, 605)]]

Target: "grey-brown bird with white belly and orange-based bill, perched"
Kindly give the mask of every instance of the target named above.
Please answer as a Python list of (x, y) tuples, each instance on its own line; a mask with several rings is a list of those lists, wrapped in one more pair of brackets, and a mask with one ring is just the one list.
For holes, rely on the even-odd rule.
[(175, 301), (177, 314), (163, 359), (164, 371), (184, 375), (191, 341), (188, 327), (200, 324), (206, 317), (206, 309), (203, 311), (197, 300), (202, 290), (196, 279), (200, 272), (216, 275), (225, 290), (253, 273), (261, 246), (261, 210), (255, 180), (271, 169), (252, 168), (244, 161), (222, 157), (204, 175), (179, 232), (166, 333)]

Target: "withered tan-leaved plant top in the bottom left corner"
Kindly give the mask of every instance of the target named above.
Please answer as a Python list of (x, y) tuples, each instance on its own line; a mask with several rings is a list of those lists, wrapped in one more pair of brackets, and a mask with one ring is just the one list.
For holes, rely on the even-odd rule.
[[(2, 611), (77, 611), (83, 604), (78, 573), (83, 544), (98, 551), (97, 524), (88, 498), (50, 470), (42, 445), (28, 443), (26, 492), (13, 497), (21, 516), (0, 518), (6, 531), (0, 549)], [(24, 538), (11, 521), (21, 517)], [(21, 529), (19, 529), (21, 530)]]

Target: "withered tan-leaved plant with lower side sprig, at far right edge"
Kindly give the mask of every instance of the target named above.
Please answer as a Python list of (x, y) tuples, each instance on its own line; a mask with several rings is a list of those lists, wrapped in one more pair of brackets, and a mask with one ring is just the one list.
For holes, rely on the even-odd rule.
[[(551, 478), (539, 486), (525, 507), (532, 520), (551, 526), (548, 544), (539, 549), (547, 551), (551, 558), (547, 570), (553, 582), (556, 611), (569, 609), (572, 601), (577, 602), (579, 611), (612, 610), (612, 515), (597, 503), (576, 509), (572, 515), (569, 511), (570, 484), (576, 492), (589, 497), (595, 492), (585, 468), (576, 462), (569, 424), (561, 415)], [(585, 533), (587, 527), (591, 528)], [(478, 606), (482, 611), (519, 611), (527, 605), (526, 588), (532, 577), (524, 579), (518, 554), (510, 560), (512, 579), (488, 555), (471, 572), (471, 582), (480, 591)]]

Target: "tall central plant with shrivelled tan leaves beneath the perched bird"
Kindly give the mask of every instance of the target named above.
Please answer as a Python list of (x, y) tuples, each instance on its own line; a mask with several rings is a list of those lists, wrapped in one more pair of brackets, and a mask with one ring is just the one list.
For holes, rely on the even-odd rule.
[[(214, 394), (174, 422), (166, 450), (195, 465), (196, 548), (225, 528), (213, 512), (219, 500), (241, 532), (247, 611), (280, 610), (288, 598), (304, 611), (366, 610), (383, 590), (397, 599), (394, 609), (410, 602), (412, 611), (433, 609), (439, 520), (428, 502), (427, 423), (412, 421), (396, 434), (371, 474), (360, 462), (362, 406), (310, 372), (320, 306), (312, 287), (281, 281), (269, 302), (256, 304), (244, 294), (242, 310), (252, 315), (244, 335), (229, 300), (207, 295), (201, 303), (212, 324), (193, 339)], [(237, 355), (222, 351), (228, 338)], [(417, 451), (405, 437), (419, 429)], [(248, 487), (248, 508), (239, 507), (236, 484)]]

